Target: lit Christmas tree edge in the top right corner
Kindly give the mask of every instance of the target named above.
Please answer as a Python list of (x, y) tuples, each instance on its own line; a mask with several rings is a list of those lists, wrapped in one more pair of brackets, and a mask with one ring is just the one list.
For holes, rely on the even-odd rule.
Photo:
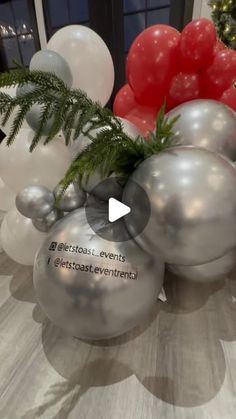
[(209, 6), (219, 38), (229, 48), (236, 50), (236, 1), (211, 0)]

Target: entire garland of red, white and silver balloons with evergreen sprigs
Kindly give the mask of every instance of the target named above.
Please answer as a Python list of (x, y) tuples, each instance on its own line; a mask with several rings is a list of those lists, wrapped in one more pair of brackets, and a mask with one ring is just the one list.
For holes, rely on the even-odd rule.
[[(236, 262), (236, 118), (219, 101), (234, 89), (236, 53), (206, 19), (182, 34), (166, 25), (146, 29), (129, 52), (129, 84), (115, 99), (115, 116), (103, 108), (114, 82), (109, 51), (81, 28), (58, 31), (29, 70), (0, 75), (0, 89), (17, 87), (15, 96), (0, 90), (3, 129), (11, 121), (0, 176), (3, 190), (17, 194), (1, 239), (10, 257), (34, 264), (48, 317), (73, 336), (101, 339), (147, 315), (165, 263), (200, 282), (221, 279)], [(124, 202), (139, 205), (140, 219), (118, 224), (124, 242), (111, 223), (102, 225), (109, 241), (95, 234), (83, 208), (93, 187), (114, 175), (124, 179)], [(134, 181), (151, 207), (141, 233)]]

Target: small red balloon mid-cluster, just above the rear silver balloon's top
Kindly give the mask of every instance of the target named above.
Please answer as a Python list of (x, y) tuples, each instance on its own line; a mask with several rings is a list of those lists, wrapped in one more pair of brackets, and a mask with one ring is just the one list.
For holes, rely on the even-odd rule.
[(167, 95), (167, 108), (172, 109), (181, 103), (198, 99), (200, 96), (200, 76), (198, 74), (178, 73), (171, 80)]

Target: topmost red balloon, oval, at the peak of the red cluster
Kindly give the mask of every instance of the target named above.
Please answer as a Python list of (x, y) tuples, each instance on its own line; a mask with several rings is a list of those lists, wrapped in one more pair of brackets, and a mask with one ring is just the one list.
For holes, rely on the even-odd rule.
[(216, 39), (211, 20), (201, 18), (185, 26), (180, 39), (182, 67), (195, 72), (206, 67), (213, 58)]

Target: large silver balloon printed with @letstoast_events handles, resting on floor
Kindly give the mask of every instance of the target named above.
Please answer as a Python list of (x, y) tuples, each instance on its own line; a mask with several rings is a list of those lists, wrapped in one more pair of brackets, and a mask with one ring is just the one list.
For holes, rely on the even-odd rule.
[[(103, 226), (104, 228), (104, 226)], [(113, 231), (113, 224), (107, 224)], [(52, 228), (34, 265), (36, 296), (47, 316), (73, 336), (103, 339), (142, 321), (162, 286), (164, 264), (133, 241), (96, 235), (84, 209)]]

